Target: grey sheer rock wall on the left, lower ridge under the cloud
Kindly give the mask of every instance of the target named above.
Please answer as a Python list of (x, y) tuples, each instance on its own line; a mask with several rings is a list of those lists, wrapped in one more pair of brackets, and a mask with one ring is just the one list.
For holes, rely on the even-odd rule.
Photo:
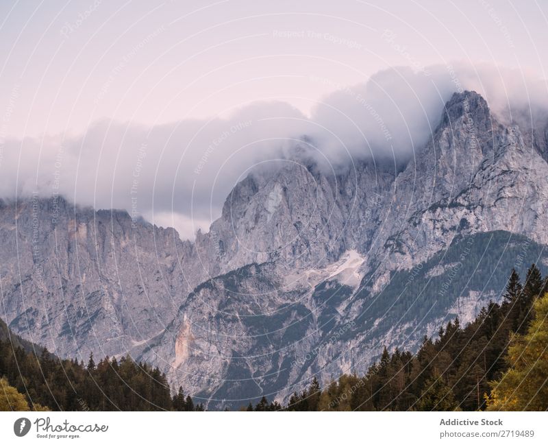
[(162, 332), (207, 278), (173, 230), (61, 197), (3, 202), (2, 317), (61, 356), (120, 354)]

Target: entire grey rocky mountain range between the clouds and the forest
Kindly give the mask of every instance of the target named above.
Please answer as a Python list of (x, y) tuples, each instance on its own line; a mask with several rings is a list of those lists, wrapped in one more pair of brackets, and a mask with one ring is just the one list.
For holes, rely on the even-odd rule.
[(129, 351), (210, 408), (286, 400), (473, 320), (512, 267), (543, 269), (543, 128), (456, 93), (403, 169), (252, 171), (194, 243), (58, 197), (3, 202), (2, 316), (61, 356)]

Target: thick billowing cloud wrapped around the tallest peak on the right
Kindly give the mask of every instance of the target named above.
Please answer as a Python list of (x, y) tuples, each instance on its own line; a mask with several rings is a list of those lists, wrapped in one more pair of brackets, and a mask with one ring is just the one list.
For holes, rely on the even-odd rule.
[(443, 106), (456, 91), (481, 94), (506, 122), (521, 117), (524, 123), (524, 115), (545, 118), (548, 108), (545, 80), (484, 63), (456, 62), (421, 71), (394, 67), (364, 84), (332, 84), (336, 91), (320, 101), (311, 117), (322, 129), (312, 134), (332, 163), (344, 163), (349, 156), (406, 163), (432, 136)]

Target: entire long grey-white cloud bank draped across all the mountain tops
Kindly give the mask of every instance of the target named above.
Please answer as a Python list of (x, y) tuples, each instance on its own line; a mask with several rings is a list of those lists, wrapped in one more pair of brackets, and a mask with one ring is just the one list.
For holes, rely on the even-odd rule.
[(403, 165), (427, 142), (455, 91), (477, 91), (506, 121), (547, 116), (545, 80), (489, 64), (394, 67), (355, 86), (321, 75), (310, 82), (334, 92), (308, 117), (288, 104), (258, 102), (228, 119), (152, 128), (105, 119), (77, 137), (0, 141), (0, 195), (58, 191), (191, 237), (219, 217), (234, 184), (258, 163), (275, 168), (280, 159), (306, 156), (329, 168), (371, 157)]

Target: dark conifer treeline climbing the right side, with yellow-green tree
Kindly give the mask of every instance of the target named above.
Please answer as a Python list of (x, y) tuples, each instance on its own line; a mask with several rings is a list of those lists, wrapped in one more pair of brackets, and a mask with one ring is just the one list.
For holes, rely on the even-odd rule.
[[(468, 326), (458, 318), (416, 354), (386, 348), (364, 376), (343, 375), (293, 394), (290, 411), (548, 409), (547, 281), (536, 265), (512, 270), (501, 304)], [(539, 296), (543, 296), (539, 298)]]

